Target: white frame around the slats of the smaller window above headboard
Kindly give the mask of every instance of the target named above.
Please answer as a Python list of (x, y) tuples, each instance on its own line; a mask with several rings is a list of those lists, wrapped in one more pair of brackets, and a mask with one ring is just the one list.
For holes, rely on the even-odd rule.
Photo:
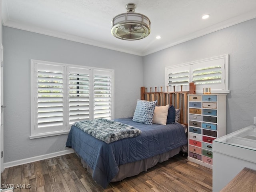
[[(212, 63), (218, 63), (218, 64), (212, 64)], [(202, 65), (202, 66), (201, 66)], [(229, 90), (229, 55), (221, 55), (221, 56), (215, 56), (212, 58), (206, 58), (202, 60), (197, 60), (193, 62), (178, 64), (175, 66), (167, 66), (165, 67), (165, 91), (174, 91), (173, 86), (169, 86), (169, 74), (174, 72), (182, 72), (184, 69), (186, 69), (189, 73), (189, 82), (193, 82), (193, 72), (195, 68), (204, 68), (204, 66), (216, 66), (221, 65), (221, 83), (220, 84), (196, 84), (196, 94), (203, 94), (203, 88), (205, 87), (212, 87), (211, 93), (214, 94), (222, 94), (222, 93), (230, 93)], [(183, 91), (189, 91), (189, 82), (187, 85), (182, 86)], [(175, 86), (175, 91), (181, 91), (180, 86)]]

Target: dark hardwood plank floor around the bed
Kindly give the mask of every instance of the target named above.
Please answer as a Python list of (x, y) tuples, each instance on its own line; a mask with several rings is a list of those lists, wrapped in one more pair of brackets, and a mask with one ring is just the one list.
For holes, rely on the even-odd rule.
[(92, 180), (74, 153), (6, 168), (1, 179), (1, 187), (12, 184), (14, 192), (212, 191), (212, 170), (189, 162), (180, 154), (147, 172), (110, 183), (106, 189)]

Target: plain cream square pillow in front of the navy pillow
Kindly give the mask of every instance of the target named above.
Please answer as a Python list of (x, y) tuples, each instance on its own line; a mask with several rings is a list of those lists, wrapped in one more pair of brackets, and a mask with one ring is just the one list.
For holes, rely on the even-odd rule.
[(156, 106), (154, 110), (154, 115), (153, 115), (153, 123), (166, 125), (168, 109), (169, 109), (169, 105)]

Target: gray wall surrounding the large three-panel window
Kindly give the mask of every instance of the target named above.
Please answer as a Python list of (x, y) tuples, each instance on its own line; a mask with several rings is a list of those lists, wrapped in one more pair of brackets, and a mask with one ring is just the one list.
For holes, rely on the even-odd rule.
[(115, 118), (132, 116), (143, 86), (142, 57), (3, 27), (4, 162), (65, 150), (67, 135), (30, 140), (30, 59), (115, 70)]

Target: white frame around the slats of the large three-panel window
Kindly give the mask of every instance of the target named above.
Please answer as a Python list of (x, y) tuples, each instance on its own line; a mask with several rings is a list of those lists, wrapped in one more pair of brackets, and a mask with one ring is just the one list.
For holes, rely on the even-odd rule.
[[(38, 130), (37, 119), (38, 119), (38, 84), (37, 80), (38, 77), (36, 76), (38, 70), (35, 68), (35, 64), (44, 64), (44, 65), (52, 65), (52, 66), (62, 66), (64, 68), (64, 74), (62, 76), (63, 80), (63, 126), (62, 130), (57, 130), (53, 132), (40, 132), (36, 133), (36, 130)], [(71, 128), (71, 124), (69, 121), (68, 116), (69, 114), (69, 68), (76, 68), (81, 70), (88, 70), (89, 71), (89, 118), (94, 118), (94, 73), (95, 72), (104, 72), (109, 74), (111, 79), (111, 85), (110, 85), (110, 100), (111, 100), (111, 114), (110, 118), (114, 118), (114, 70), (113, 69), (106, 69), (106, 68), (95, 68), (95, 67), (88, 67), (88, 66), (79, 66), (74, 64), (65, 64), (65, 63), (58, 63), (58, 62), (48, 62), (48, 61), (42, 61), (42, 60), (30, 60), (30, 76), (31, 76), (31, 133), (30, 133), (30, 139), (34, 138), (42, 138), (42, 137), (48, 137), (48, 136), (56, 136), (56, 135), (62, 135), (62, 134), (68, 134)], [(37, 71), (36, 71), (37, 70)], [(37, 119), (36, 119), (37, 118)], [(47, 127), (48, 128), (48, 127)], [(46, 130), (47, 130), (46, 128)]]

